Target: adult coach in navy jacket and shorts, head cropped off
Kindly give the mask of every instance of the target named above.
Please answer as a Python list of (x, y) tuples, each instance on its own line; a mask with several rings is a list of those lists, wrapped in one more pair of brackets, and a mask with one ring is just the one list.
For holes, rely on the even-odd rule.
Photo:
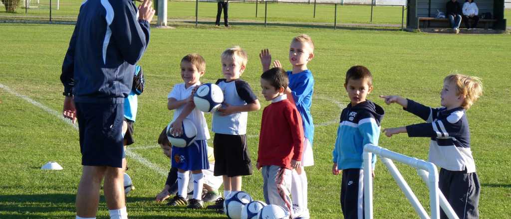
[(63, 116), (78, 119), (82, 176), (76, 218), (96, 218), (100, 183), (110, 218), (127, 218), (123, 188), (124, 98), (149, 43), (154, 10), (144, 0), (84, 1), (62, 64)]

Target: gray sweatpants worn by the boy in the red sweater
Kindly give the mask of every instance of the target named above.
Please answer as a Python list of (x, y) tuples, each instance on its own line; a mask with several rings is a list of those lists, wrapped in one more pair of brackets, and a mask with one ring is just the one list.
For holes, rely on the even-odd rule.
[(281, 206), (292, 215), (291, 170), (278, 166), (264, 166), (261, 172), (266, 203)]

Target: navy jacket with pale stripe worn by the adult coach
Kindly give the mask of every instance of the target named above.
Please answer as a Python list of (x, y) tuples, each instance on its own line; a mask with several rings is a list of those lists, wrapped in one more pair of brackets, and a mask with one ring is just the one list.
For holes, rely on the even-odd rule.
[(137, 13), (130, 0), (82, 3), (60, 75), (76, 102), (124, 102), (149, 43), (149, 23)]

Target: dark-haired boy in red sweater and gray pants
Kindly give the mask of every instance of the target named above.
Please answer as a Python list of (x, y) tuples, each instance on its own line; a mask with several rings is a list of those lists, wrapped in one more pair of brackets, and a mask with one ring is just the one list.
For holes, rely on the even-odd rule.
[(296, 106), (284, 95), (286, 71), (272, 68), (261, 75), (262, 94), (271, 104), (263, 111), (257, 168), (263, 174), (264, 199), (292, 214), (291, 170), (300, 167), (304, 129)]

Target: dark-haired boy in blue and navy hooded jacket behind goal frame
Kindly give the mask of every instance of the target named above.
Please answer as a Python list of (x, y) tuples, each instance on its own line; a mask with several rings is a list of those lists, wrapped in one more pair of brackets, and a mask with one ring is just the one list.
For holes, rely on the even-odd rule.
[[(337, 140), (332, 152), (332, 174), (342, 172), (341, 209), (344, 218), (360, 218), (364, 212), (362, 152), (364, 145), (378, 145), (383, 108), (366, 99), (373, 90), (373, 76), (364, 66), (346, 72), (344, 88), (351, 103), (342, 110)], [(376, 155), (373, 154), (373, 170)], [(371, 173), (374, 177), (374, 171)]]

